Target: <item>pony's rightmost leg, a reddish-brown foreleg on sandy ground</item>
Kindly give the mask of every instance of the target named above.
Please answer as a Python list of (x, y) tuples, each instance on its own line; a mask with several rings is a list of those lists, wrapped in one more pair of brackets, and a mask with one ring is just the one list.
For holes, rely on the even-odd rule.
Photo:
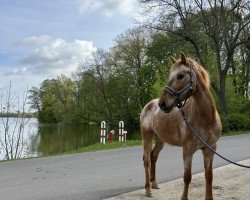
[[(214, 150), (216, 150), (216, 144), (211, 146)], [(206, 200), (213, 199), (213, 191), (212, 191), (212, 182), (213, 182), (213, 159), (214, 153), (209, 149), (202, 149), (203, 157), (204, 157), (204, 167), (205, 167), (205, 178), (206, 178)]]

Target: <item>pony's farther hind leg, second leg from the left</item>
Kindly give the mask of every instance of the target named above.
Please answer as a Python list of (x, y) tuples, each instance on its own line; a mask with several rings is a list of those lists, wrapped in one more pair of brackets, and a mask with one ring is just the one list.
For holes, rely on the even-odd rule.
[(155, 146), (153, 148), (153, 151), (151, 152), (151, 178), (150, 181), (152, 183), (153, 189), (159, 189), (156, 176), (155, 176), (155, 169), (156, 169), (156, 161), (158, 159), (159, 153), (164, 147), (164, 143), (160, 141), (160, 139), (156, 136), (155, 138)]

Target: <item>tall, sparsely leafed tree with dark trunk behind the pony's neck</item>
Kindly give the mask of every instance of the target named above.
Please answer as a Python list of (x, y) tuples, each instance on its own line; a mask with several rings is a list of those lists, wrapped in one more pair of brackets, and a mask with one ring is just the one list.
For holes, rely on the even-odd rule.
[[(206, 65), (202, 52), (208, 42), (215, 54), (218, 81), (212, 77), (212, 87), (218, 96), (221, 113), (228, 114), (226, 102), (226, 77), (232, 67), (235, 51), (247, 38), (249, 30), (249, 4), (243, 0), (188, 1), (141, 0), (151, 20), (146, 27), (161, 30), (185, 39), (193, 46), (200, 63)], [(203, 36), (203, 38), (202, 38)]]

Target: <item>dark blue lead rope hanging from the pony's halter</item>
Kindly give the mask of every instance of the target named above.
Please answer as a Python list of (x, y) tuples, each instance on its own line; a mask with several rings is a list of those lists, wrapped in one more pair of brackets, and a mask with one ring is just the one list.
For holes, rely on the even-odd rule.
[(208, 149), (210, 149), (210, 151), (212, 151), (214, 154), (216, 154), (217, 156), (219, 156), (220, 158), (226, 160), (227, 162), (229, 163), (232, 163), (234, 165), (237, 165), (237, 166), (240, 166), (240, 167), (245, 167), (245, 168), (250, 168), (250, 166), (247, 166), (247, 165), (243, 165), (243, 164), (239, 164), (239, 163), (236, 163), (236, 162), (233, 162), (231, 160), (229, 160), (228, 158), (225, 158), (224, 156), (222, 156), (221, 154), (217, 153), (212, 147), (210, 147), (200, 136), (199, 134), (194, 130), (194, 128), (191, 126), (191, 124), (188, 122), (188, 119), (185, 115), (185, 112), (183, 110), (183, 106), (180, 108), (180, 111), (181, 111), (181, 115), (184, 119), (184, 121), (186, 122), (186, 124), (188, 125), (188, 127), (191, 129), (192, 133), (195, 135), (195, 137), (201, 141)]

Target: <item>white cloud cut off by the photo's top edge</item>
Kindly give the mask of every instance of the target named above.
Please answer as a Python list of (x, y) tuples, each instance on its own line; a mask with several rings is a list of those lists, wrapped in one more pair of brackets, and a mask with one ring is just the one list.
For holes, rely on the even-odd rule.
[(131, 15), (134, 14), (135, 0), (102, 0), (92, 1), (85, 0), (80, 1), (79, 10), (81, 13), (89, 11), (99, 11), (106, 17), (113, 17), (114, 15)]

